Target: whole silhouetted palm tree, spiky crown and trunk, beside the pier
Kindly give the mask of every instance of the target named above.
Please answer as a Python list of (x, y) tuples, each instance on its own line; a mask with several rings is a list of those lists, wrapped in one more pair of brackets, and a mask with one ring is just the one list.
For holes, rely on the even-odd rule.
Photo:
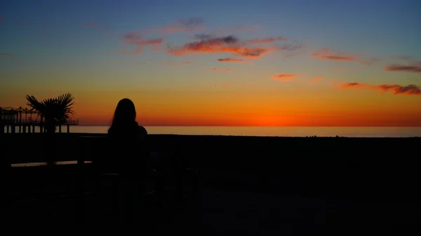
[(55, 144), (57, 140), (54, 138), (55, 129), (58, 125), (65, 123), (69, 116), (74, 114), (73, 95), (66, 93), (56, 98), (44, 99), (41, 102), (34, 96), (26, 95), (27, 106), (31, 111), (41, 113), (41, 120), (44, 117), (46, 129), (46, 159), (49, 166), (55, 164)]

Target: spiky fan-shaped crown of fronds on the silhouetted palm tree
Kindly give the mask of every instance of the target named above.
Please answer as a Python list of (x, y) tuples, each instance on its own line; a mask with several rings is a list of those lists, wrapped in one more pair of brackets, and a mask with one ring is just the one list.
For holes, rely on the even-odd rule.
[(41, 102), (34, 96), (26, 95), (27, 106), (32, 110), (39, 111), (45, 119), (45, 128), (47, 134), (54, 134), (58, 125), (66, 123), (69, 116), (74, 114), (73, 100), (74, 97), (70, 93), (66, 93), (56, 98), (44, 99)]

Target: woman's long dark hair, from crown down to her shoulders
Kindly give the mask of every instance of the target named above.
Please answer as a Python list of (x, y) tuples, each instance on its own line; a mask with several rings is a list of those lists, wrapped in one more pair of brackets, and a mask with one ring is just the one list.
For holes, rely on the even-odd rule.
[(135, 104), (131, 99), (121, 99), (116, 106), (116, 111), (114, 111), (108, 134), (134, 135), (137, 131)]

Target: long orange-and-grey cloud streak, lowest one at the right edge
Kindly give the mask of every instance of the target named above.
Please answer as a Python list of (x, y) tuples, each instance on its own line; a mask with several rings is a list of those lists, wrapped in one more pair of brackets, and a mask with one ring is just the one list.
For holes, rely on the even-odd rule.
[(345, 83), (339, 85), (339, 88), (366, 88), (380, 90), (381, 92), (393, 92), (394, 95), (421, 95), (421, 88), (417, 85), (370, 85), (367, 83)]

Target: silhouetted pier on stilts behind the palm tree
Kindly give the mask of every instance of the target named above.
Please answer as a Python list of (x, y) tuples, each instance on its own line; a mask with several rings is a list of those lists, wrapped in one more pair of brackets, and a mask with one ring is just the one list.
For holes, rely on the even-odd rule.
[[(2, 133), (34, 133), (35, 127), (39, 127), (39, 132), (46, 132), (44, 128), (45, 119), (39, 111), (34, 109), (0, 106), (0, 134)], [(58, 132), (62, 132), (62, 125), (67, 125), (67, 133), (70, 132), (70, 125), (79, 125), (79, 119), (67, 120), (58, 125)], [(18, 127), (18, 131), (16, 128)]]

